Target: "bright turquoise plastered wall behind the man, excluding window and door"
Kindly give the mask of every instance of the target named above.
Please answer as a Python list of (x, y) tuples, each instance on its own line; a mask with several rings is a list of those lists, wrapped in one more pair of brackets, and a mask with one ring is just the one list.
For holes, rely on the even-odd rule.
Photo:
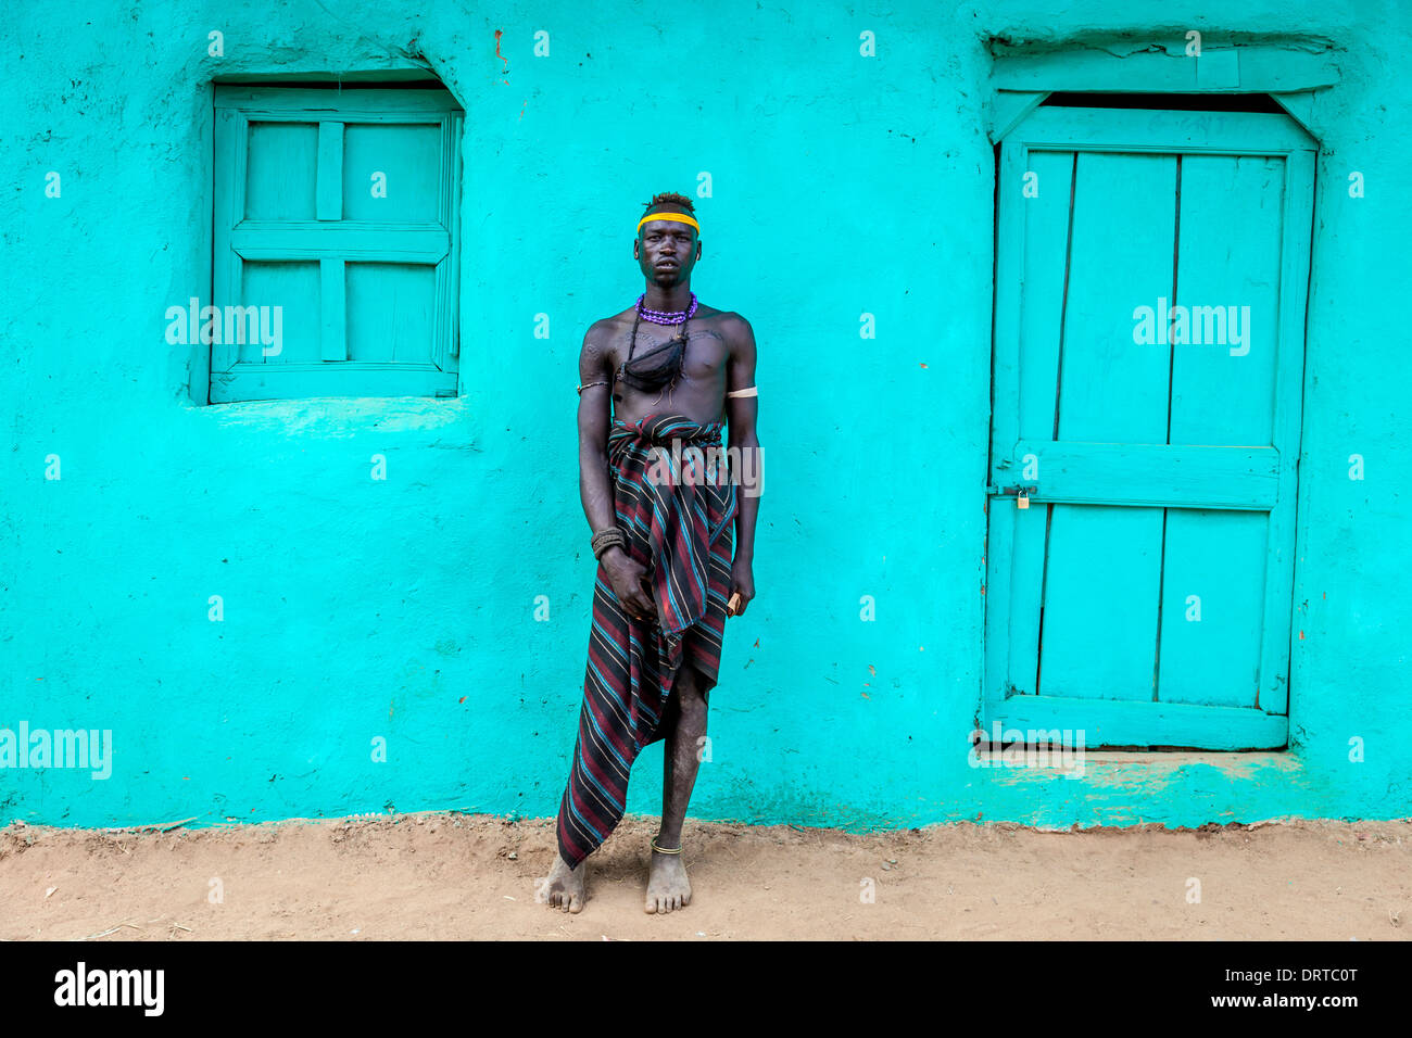
[[(758, 599), (727, 628), (695, 816), (863, 828), (1412, 813), (1408, 16), (1245, 0), (1216, 23), (1193, 14), (1204, 7), (17, 6), (0, 27), (13, 442), (0, 452), (0, 726), (112, 730), (113, 774), (0, 770), (0, 822), (552, 815), (594, 568), (578, 347), (641, 291), (641, 203), (695, 191), (703, 171), (695, 287), (754, 325), (768, 476)], [(986, 41), (1180, 41), (1187, 28), (1319, 37), (1341, 75), (1316, 107), (1293, 744), (1094, 756), (1083, 780), (971, 768), (994, 216)], [(225, 58), (206, 54), (212, 30)], [(537, 30), (548, 58), (532, 56)], [(864, 30), (875, 58), (858, 55)], [(460, 398), (195, 402), (203, 356), (165, 342), (164, 312), (209, 297), (212, 79), (407, 68), (414, 54), (466, 109)], [(1354, 169), (1361, 199), (1346, 189)], [(48, 171), (59, 198), (45, 196)], [(864, 311), (874, 340), (858, 338)], [(370, 479), (374, 453), (385, 482)], [(1348, 479), (1354, 453), (1363, 482)], [(208, 620), (212, 595), (222, 623)], [(534, 619), (541, 595), (548, 621)], [(860, 620), (864, 595), (874, 623)], [(387, 763), (371, 760), (378, 736)], [(659, 804), (659, 756), (640, 760), (631, 811)]]

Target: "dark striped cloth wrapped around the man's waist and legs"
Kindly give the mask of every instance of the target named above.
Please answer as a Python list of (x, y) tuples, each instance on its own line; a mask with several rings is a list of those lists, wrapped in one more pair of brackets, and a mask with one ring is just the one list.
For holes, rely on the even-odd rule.
[[(672, 681), (689, 662), (709, 693), (720, 669), (730, 595), (736, 486), (724, 459), (712, 470), (723, 422), (679, 414), (613, 419), (609, 465), (624, 551), (648, 569), (661, 621), (620, 604), (599, 563), (579, 737), (559, 802), (559, 854), (576, 867), (623, 819), (633, 761), (666, 736)], [(689, 451), (689, 446), (700, 451)], [(672, 703), (675, 706), (675, 703)]]

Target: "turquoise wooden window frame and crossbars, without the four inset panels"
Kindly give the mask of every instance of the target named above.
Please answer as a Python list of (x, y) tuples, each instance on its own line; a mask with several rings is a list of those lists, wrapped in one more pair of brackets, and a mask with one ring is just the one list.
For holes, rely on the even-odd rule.
[[(215, 88), (215, 219), (212, 304), (241, 304), (249, 261), (316, 261), (321, 284), (318, 362), (251, 363), (229, 342), (210, 345), (209, 402), (309, 397), (455, 397), (459, 381), (460, 137), (465, 113), (446, 90)], [(319, 126), (316, 219), (246, 219), (251, 121)], [(345, 220), (343, 127), (347, 123), (433, 124), (441, 134), (436, 217), (431, 222)], [(349, 360), (346, 263), (435, 267), (429, 363)]]

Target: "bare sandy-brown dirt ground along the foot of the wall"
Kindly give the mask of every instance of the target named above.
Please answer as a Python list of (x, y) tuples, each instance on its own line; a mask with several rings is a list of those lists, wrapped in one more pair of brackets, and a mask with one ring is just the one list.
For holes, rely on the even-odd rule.
[(642, 911), (654, 833), (652, 819), (624, 821), (589, 860), (587, 908), (566, 915), (534, 897), (552, 821), (17, 823), (0, 829), (0, 938), (1406, 941), (1412, 929), (1412, 819), (867, 836), (688, 822), (692, 904), (662, 917)]

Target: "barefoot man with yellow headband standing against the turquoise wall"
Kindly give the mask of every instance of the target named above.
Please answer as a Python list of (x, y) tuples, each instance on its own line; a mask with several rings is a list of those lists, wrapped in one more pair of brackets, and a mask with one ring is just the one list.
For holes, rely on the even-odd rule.
[[(681, 837), (707, 698), (726, 617), (755, 596), (758, 483), (737, 493), (743, 473), (760, 475), (755, 339), (743, 316), (690, 290), (702, 256), (693, 210), (676, 193), (647, 205), (633, 243), (647, 288), (594, 322), (579, 356), (579, 494), (599, 569), (559, 856), (539, 885), (541, 901), (569, 912), (587, 901), (585, 859), (623, 818), (633, 761), (659, 739), (662, 825), (644, 907), (690, 904)], [(702, 463), (720, 453), (734, 472)]]

